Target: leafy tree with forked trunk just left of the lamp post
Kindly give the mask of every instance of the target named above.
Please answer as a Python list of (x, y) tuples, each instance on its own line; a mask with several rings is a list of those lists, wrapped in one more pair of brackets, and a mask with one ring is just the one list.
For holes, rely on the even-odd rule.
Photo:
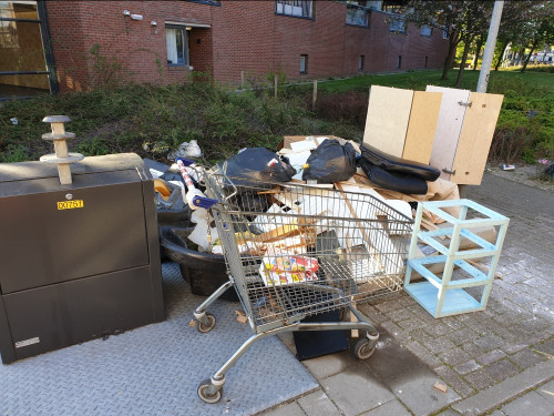
[(410, 0), (402, 9), (408, 21), (417, 24), (429, 24), (444, 30), (449, 38), (449, 50), (442, 70), (442, 80), (448, 79), (450, 65), (453, 62), (455, 49), (463, 42), (464, 58), (456, 84), (461, 83), (464, 60), (468, 58), (471, 42), (476, 35), (486, 32), (492, 2), (473, 0)]

